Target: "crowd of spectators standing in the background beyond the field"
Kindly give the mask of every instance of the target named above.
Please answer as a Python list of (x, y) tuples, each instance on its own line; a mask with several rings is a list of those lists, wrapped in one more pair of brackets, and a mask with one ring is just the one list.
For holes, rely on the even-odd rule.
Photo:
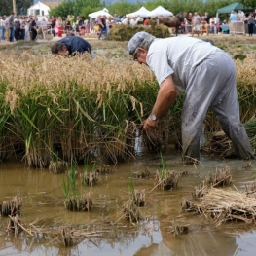
[[(151, 22), (157, 22), (156, 17), (142, 18), (140, 16), (98, 16), (97, 18), (81, 18), (72, 15), (67, 18), (42, 18), (39, 20), (36, 16), (18, 16), (12, 13), (10, 16), (4, 15), (0, 17), (0, 40), (15, 42), (18, 40), (35, 41), (39, 34), (50, 34), (51, 36), (62, 37), (63, 33), (69, 35), (85, 36), (89, 34), (97, 34), (98, 39), (108, 39), (108, 34), (113, 25), (150, 25)], [(180, 33), (191, 33), (200, 35), (203, 33), (216, 34), (222, 31), (221, 26), (230, 24), (233, 28), (236, 23), (247, 23), (249, 36), (256, 33), (256, 10), (249, 13), (247, 16), (241, 10), (236, 13), (231, 12), (228, 22), (220, 21), (219, 18), (211, 18), (208, 13), (200, 16), (198, 12), (194, 14), (188, 13), (180, 26)], [(244, 27), (242, 27), (244, 28)], [(230, 31), (224, 31), (229, 33)]]

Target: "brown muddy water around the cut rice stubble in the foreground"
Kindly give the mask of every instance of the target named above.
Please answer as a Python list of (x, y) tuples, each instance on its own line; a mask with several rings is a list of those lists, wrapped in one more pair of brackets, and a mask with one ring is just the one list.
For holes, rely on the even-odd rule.
[[(23, 198), (22, 223), (28, 227), (37, 218), (47, 234), (38, 232), (30, 237), (6, 233), (7, 217), (0, 219), (0, 255), (95, 255), (95, 256), (155, 256), (155, 255), (254, 255), (256, 250), (255, 225), (227, 223), (219, 227), (199, 215), (184, 214), (180, 210), (182, 198), (191, 200), (193, 188), (200, 185), (205, 175), (216, 167), (230, 166), (233, 182), (238, 189), (256, 178), (256, 162), (242, 169), (247, 162), (201, 157), (201, 165), (183, 165), (179, 155), (167, 152), (165, 160), (170, 169), (187, 172), (179, 179), (178, 189), (162, 192), (154, 187), (154, 173), (160, 160), (156, 155), (139, 156), (136, 161), (115, 166), (115, 171), (101, 175), (94, 187), (81, 187), (91, 191), (93, 207), (90, 212), (68, 212), (63, 206), (63, 174), (54, 175), (48, 170), (29, 170), (23, 164), (0, 165), (0, 201), (11, 200), (15, 195)], [(137, 189), (146, 190), (146, 207), (141, 213), (146, 218), (137, 226), (120, 219), (122, 205), (127, 200), (129, 177), (146, 167), (149, 179), (135, 179)], [(81, 171), (82, 166), (78, 167)], [(78, 186), (81, 180), (77, 178)], [(190, 232), (174, 238), (173, 220), (188, 224)], [(65, 248), (57, 242), (61, 227), (72, 226), (81, 232), (94, 232), (98, 236), (76, 240)]]

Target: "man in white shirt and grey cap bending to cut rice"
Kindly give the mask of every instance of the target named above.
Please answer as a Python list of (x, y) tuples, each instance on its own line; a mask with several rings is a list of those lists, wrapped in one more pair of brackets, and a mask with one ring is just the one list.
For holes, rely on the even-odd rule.
[(185, 162), (200, 159), (201, 128), (208, 109), (216, 114), (238, 157), (254, 158), (239, 119), (236, 67), (230, 55), (193, 37), (160, 39), (144, 31), (129, 40), (127, 50), (134, 60), (154, 72), (160, 85), (152, 112), (141, 125), (143, 130), (158, 128), (159, 119), (174, 103), (179, 90), (185, 91), (181, 117)]

